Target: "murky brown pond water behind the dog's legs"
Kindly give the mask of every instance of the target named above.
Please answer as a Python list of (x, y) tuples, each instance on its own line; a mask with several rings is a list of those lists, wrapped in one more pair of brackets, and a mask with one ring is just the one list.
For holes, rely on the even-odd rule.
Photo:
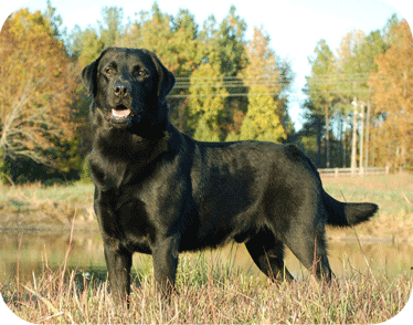
[[(63, 264), (68, 248), (70, 234), (47, 234), (41, 232), (0, 233), (0, 283), (15, 281), (19, 269), (20, 282), (32, 281), (33, 272), (40, 275), (45, 266), (56, 269)], [(246, 274), (264, 276), (253, 263), (243, 244), (230, 244), (215, 251), (205, 251), (209, 264), (231, 263)], [(186, 259), (200, 256), (200, 253), (186, 253)], [(336, 275), (361, 272), (386, 274), (394, 277), (400, 273), (413, 272), (413, 245), (407, 243), (374, 242), (329, 242), (329, 260)], [(151, 258), (134, 255), (135, 272), (151, 264)], [(287, 250), (286, 266), (295, 277), (308, 274), (307, 270)], [(106, 273), (100, 234), (96, 231), (75, 233), (68, 256), (68, 268), (80, 271), (102, 271)], [(150, 268), (150, 266), (149, 266)], [(206, 272), (206, 271), (205, 271)]]

